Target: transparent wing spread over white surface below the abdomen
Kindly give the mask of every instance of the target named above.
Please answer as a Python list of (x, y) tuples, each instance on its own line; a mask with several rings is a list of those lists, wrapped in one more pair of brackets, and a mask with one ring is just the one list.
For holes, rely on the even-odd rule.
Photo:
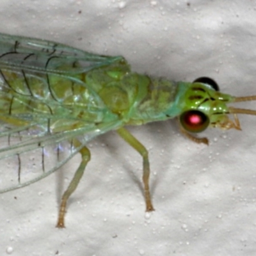
[[(33, 124), (31, 125), (33, 127)], [(120, 123), (103, 124), (97, 130), (93, 127), (83, 127), (76, 131), (51, 135), (33, 135), (33, 130), (32, 134), (29, 131), (31, 125), (16, 129), (1, 128), (0, 193), (44, 179), (67, 163), (88, 141), (115, 129)], [(81, 147), (73, 147), (73, 138), (81, 141)]]

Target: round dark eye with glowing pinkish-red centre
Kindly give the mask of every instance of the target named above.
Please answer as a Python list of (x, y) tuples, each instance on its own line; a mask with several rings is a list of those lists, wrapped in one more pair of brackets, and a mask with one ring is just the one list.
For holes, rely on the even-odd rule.
[(180, 124), (188, 132), (202, 132), (209, 122), (208, 116), (198, 110), (189, 110), (180, 115)]

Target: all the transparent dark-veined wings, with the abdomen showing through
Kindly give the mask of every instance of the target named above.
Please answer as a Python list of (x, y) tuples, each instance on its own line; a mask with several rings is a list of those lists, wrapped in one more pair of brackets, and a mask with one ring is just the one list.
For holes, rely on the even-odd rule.
[[(120, 125), (100, 122), (106, 106), (81, 76), (121, 59), (0, 33), (0, 193), (46, 177), (88, 140)], [(86, 92), (85, 101), (75, 102), (76, 90)]]

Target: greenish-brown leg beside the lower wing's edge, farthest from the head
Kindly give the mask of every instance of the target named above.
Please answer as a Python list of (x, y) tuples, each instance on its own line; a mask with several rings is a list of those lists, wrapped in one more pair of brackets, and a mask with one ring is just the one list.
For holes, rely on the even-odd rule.
[[(73, 145), (74, 145), (74, 147), (80, 147), (81, 143), (75, 139), (75, 140), (73, 140)], [(81, 180), (81, 177), (83, 176), (86, 164), (90, 161), (90, 158), (91, 158), (90, 150), (88, 148), (86, 148), (85, 146), (83, 148), (81, 148), (81, 150), (79, 150), (79, 152), (81, 154), (82, 161), (81, 161), (79, 167), (77, 168), (73, 179), (71, 180), (70, 184), (68, 185), (67, 190), (65, 191), (65, 193), (63, 194), (63, 196), (61, 198), (58, 223), (56, 225), (56, 227), (58, 227), (58, 228), (65, 227), (64, 218), (65, 218), (65, 213), (66, 213), (67, 200), (70, 197), (70, 195), (72, 195), (72, 193), (76, 190), (77, 185), (79, 184), (79, 181)]]

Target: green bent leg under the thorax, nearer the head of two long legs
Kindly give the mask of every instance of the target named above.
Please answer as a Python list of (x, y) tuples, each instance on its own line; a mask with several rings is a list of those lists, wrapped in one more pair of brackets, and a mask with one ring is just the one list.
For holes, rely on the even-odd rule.
[(146, 211), (154, 211), (154, 207), (151, 202), (150, 192), (149, 192), (149, 161), (148, 161), (148, 150), (138, 141), (132, 134), (127, 131), (124, 127), (116, 130), (118, 134), (127, 142), (131, 147), (133, 147), (140, 155), (143, 157), (143, 184), (146, 202)]

